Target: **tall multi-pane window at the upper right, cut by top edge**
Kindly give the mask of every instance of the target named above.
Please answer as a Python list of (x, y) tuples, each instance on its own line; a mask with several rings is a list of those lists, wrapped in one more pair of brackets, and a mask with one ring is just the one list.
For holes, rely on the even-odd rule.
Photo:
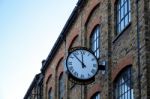
[(131, 22), (130, 0), (119, 0), (117, 3), (117, 34), (121, 33)]

